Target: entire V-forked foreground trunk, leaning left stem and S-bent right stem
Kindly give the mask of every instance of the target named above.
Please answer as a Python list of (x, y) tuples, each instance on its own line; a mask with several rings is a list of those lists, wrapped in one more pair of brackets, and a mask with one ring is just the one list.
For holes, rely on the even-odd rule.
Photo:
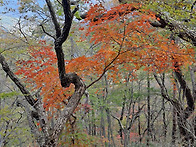
[[(50, 0), (46, 0), (52, 22), (55, 26), (56, 36), (54, 37), (54, 49), (56, 51), (57, 61), (58, 61), (58, 72), (59, 79), (61, 81), (62, 87), (69, 87), (70, 84), (75, 85), (75, 92), (70, 97), (66, 107), (57, 118), (54, 128), (51, 128), (49, 125), (48, 117), (43, 107), (43, 102), (39, 94), (36, 95), (37, 100), (30, 94), (30, 92), (25, 88), (25, 86), (20, 82), (16, 75), (12, 72), (7, 64), (5, 58), (0, 54), (0, 63), (3, 67), (3, 70), (10, 77), (10, 79), (16, 84), (24, 95), (28, 104), (33, 108), (33, 111), (29, 109), (29, 106), (24, 105), (29, 126), (31, 128), (32, 134), (34, 134), (38, 144), (42, 147), (56, 147), (58, 145), (58, 138), (61, 134), (66, 121), (72, 115), (75, 108), (78, 106), (80, 99), (82, 98), (86, 86), (82, 79), (75, 73), (66, 73), (65, 71), (65, 62), (64, 54), (62, 50), (62, 44), (66, 41), (69, 31), (72, 24), (72, 19), (76, 9), (71, 12), (70, 10), (70, 1), (62, 0), (62, 7), (65, 15), (64, 26), (61, 29), (57, 21), (55, 11), (53, 10)], [(42, 26), (43, 27), (43, 26)], [(40, 123), (41, 131), (35, 125), (34, 121), (36, 120)]]

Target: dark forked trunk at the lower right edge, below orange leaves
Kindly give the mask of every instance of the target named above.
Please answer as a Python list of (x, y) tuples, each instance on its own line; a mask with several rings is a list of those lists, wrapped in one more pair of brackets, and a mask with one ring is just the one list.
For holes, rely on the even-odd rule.
[(169, 97), (165, 85), (159, 81), (156, 74), (154, 74), (154, 77), (161, 88), (161, 94), (162, 94), (163, 98), (165, 98), (166, 100), (171, 102), (171, 104), (175, 107), (175, 110), (177, 113), (178, 127), (180, 130), (180, 134), (182, 136), (182, 140), (185, 142), (185, 146), (186, 146), (186, 144), (190, 144), (194, 141), (194, 136), (189, 131), (189, 127), (187, 125), (187, 119), (194, 112), (195, 106), (194, 106), (194, 99), (191, 95), (190, 89), (189, 89), (186, 81), (184, 80), (184, 77), (183, 77), (179, 67), (177, 67), (177, 66), (178, 65), (175, 65), (175, 67), (177, 69), (177, 70), (175, 70), (175, 74), (176, 74), (177, 80), (180, 83), (181, 87), (183, 88), (185, 96), (186, 96), (187, 107), (185, 109), (183, 108), (183, 106), (181, 105), (181, 103), (177, 99), (175, 99), (175, 98), (171, 99)]

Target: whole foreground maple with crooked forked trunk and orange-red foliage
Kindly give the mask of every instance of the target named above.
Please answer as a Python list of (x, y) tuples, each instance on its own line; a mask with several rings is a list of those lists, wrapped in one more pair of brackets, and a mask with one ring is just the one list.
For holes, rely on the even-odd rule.
[[(45, 41), (40, 41), (38, 46), (29, 48), (30, 59), (17, 62), (20, 69), (16, 74), (25, 78), (26, 83), (28, 83), (27, 87), (35, 91), (41, 89), (40, 93), (36, 92), (36, 98), (11, 72), (4, 57), (0, 56), (4, 71), (7, 72), (29, 104), (36, 110), (35, 115), (37, 115), (36, 119), (40, 127), (34, 126), (32, 123), (30, 127), (42, 146), (56, 146), (58, 144), (57, 140), (64, 124), (78, 106), (85, 90), (99, 81), (106, 72), (108, 79), (119, 82), (122, 80), (119, 78), (123, 72), (122, 68), (127, 71), (143, 68), (151, 73), (173, 70), (179, 74), (180, 66), (191, 65), (195, 62), (194, 49), (190, 45), (181, 47), (175, 44), (167, 34), (154, 28), (149, 19), (152, 21), (160, 21), (161, 19), (155, 13), (143, 10), (138, 3), (121, 4), (111, 8), (111, 10), (107, 10), (102, 4), (92, 5), (83, 22), (88, 25), (80, 30), (84, 31), (84, 38), (91, 38), (90, 42), (94, 44), (101, 42), (100, 50), (91, 56), (64, 60), (62, 44), (69, 35), (77, 7), (71, 12), (70, 2), (62, 1), (65, 22), (61, 29), (51, 2), (46, 0), (46, 3), (56, 31), (54, 37), (56, 55), (52, 51), (52, 46), (47, 45)], [(57, 66), (56, 63), (58, 63)], [(57, 74), (59, 77), (56, 76)], [(96, 76), (97, 78), (94, 81), (85, 81), (88, 83), (85, 86), (81, 77), (85, 79), (89, 76), (93, 78)], [(181, 75), (178, 76), (181, 77)], [(116, 80), (117, 77), (120, 79), (119, 81)], [(41, 96), (44, 98), (43, 103)], [(176, 104), (171, 99), (165, 98), (174, 105)], [(194, 104), (192, 105), (194, 107)], [(179, 105), (176, 104), (175, 106)], [(50, 119), (45, 112), (50, 107), (63, 109), (52, 133), (49, 132), (51, 129), (49, 127)], [(192, 109), (194, 110), (191, 108), (190, 113), (192, 113)], [(34, 117), (29, 118), (29, 121), (32, 121)], [(37, 131), (38, 128), (41, 128), (41, 133), (44, 135), (40, 133), (40, 130)]]

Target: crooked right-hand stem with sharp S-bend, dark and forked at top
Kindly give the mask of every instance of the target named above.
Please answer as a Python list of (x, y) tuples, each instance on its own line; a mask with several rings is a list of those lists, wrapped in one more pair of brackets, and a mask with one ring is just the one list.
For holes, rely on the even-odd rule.
[(69, 31), (72, 24), (73, 14), (70, 9), (70, 1), (69, 0), (62, 0), (62, 7), (65, 16), (64, 26), (61, 29), (60, 25), (56, 19), (55, 12), (53, 10), (52, 4), (50, 0), (46, 0), (53, 24), (56, 30), (56, 38), (54, 40), (54, 49), (57, 56), (57, 64), (58, 64), (58, 72), (59, 72), (59, 79), (61, 81), (62, 87), (69, 87), (71, 83), (75, 85), (75, 92), (69, 99), (69, 102), (66, 108), (61, 113), (57, 123), (55, 124), (54, 131), (52, 133), (51, 138), (54, 142), (57, 142), (58, 136), (60, 135), (61, 131), (64, 128), (64, 123), (73, 113), (75, 108), (77, 107), (82, 95), (85, 92), (86, 86), (82, 79), (76, 73), (66, 73), (65, 71), (65, 61), (64, 61), (64, 53), (62, 49), (62, 44), (66, 41), (69, 35)]

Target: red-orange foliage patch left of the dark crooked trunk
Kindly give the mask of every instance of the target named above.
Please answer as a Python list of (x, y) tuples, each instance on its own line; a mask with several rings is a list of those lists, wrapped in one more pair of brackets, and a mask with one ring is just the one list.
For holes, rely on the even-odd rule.
[(62, 102), (73, 93), (73, 86), (62, 88), (59, 81), (57, 59), (51, 46), (41, 42), (40, 46), (29, 48), (29, 60), (19, 60), (17, 75), (23, 75), (28, 86), (37, 90), (42, 87), (41, 95), (44, 100), (44, 107), (63, 107)]

